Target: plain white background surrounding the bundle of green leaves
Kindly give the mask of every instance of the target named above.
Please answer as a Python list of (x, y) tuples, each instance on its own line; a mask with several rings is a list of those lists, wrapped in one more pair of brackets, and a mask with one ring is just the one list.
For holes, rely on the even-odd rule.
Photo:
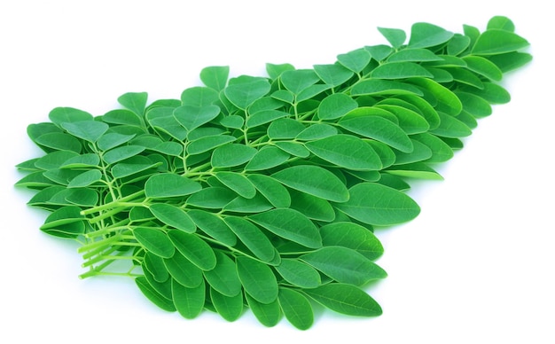
[[(201, 4), (199, 4), (201, 3)], [(0, 4), (0, 342), (555, 342), (553, 32), (539, 1), (4, 1)], [(371, 287), (384, 314), (325, 312), (306, 332), (185, 320), (156, 309), (130, 279), (80, 280), (74, 243), (38, 230), (44, 213), (15, 189), (14, 165), (40, 152), (30, 123), (56, 106), (95, 115), (128, 91), (179, 98), (202, 67), (264, 75), (264, 64), (310, 67), (386, 43), (376, 27), (427, 21), (462, 32), (511, 18), (535, 59), (507, 74), (511, 103), (495, 106), (440, 168), (415, 185), (410, 223), (378, 231), (389, 277)]]

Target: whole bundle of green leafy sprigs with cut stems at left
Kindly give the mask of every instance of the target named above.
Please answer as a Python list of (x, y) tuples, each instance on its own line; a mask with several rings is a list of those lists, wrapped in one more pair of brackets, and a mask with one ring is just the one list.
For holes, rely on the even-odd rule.
[(229, 79), (208, 66), (180, 99), (126, 93), (96, 117), (55, 108), (28, 126), (44, 155), (17, 166), (17, 185), (51, 212), (42, 231), (82, 244), (82, 278), (135, 278), (185, 318), (249, 308), (308, 329), (317, 305), (379, 316), (374, 228), (418, 215), (410, 180), (442, 178), (434, 165), (509, 101), (496, 82), (531, 59), (504, 17), (464, 34), (417, 23), (408, 43), (379, 32), (390, 45), (312, 69)]

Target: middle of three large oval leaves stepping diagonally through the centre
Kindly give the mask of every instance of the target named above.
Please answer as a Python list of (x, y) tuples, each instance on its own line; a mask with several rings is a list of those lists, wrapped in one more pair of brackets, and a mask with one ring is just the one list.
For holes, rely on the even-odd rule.
[(281, 184), (322, 199), (334, 202), (348, 200), (348, 190), (345, 184), (325, 168), (297, 165), (282, 169), (271, 176)]

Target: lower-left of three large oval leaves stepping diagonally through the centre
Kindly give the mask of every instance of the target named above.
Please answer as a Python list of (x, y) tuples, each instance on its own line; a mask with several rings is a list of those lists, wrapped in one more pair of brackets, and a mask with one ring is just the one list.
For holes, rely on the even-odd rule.
[(281, 238), (310, 248), (322, 246), (322, 238), (320, 238), (316, 225), (307, 216), (296, 210), (276, 208), (250, 215), (248, 219)]

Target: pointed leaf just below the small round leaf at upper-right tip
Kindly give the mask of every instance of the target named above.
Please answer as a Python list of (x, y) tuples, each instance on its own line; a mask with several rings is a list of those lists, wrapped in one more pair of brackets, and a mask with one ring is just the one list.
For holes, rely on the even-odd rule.
[(529, 43), (520, 35), (499, 28), (490, 28), (481, 33), (473, 47), (473, 55), (497, 55), (518, 51)]

